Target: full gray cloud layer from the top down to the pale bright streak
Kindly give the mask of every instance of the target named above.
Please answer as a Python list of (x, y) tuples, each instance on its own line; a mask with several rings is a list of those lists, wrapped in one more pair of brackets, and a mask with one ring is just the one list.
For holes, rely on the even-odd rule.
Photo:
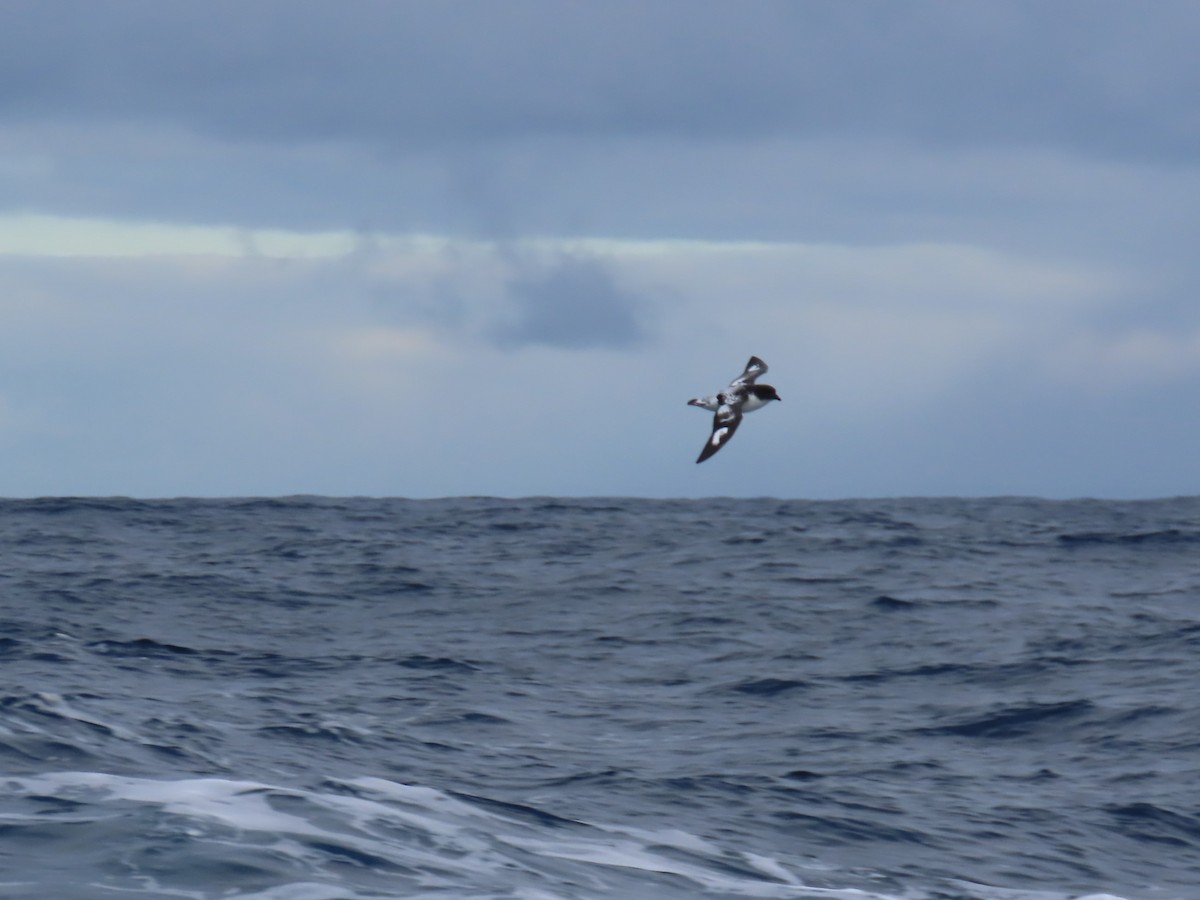
[(1200, 146), (1200, 7), (1154, 10), (10, 2), (0, 209), (1124, 252), (1178, 240), (1195, 205), (1170, 178)]

